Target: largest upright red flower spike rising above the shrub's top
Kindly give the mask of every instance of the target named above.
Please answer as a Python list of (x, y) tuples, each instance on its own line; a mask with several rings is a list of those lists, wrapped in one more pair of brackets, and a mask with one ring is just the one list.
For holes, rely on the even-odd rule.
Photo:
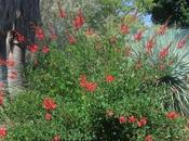
[(79, 28), (81, 28), (83, 25), (84, 25), (84, 17), (83, 17), (83, 14), (82, 14), (81, 10), (79, 10), (77, 16), (76, 16), (75, 20), (73, 20), (73, 27), (75, 27), (76, 29), (79, 29)]

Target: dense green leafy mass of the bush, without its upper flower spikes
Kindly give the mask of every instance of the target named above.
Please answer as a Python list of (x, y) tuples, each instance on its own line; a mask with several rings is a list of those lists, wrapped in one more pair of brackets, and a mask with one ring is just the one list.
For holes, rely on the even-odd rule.
[(112, 43), (80, 33), (76, 44), (40, 53), (25, 73), (28, 90), (1, 112), (5, 139), (187, 140), (185, 118), (167, 116), (170, 86), (158, 82), (167, 72), (125, 55), (123, 42), (121, 36)]

